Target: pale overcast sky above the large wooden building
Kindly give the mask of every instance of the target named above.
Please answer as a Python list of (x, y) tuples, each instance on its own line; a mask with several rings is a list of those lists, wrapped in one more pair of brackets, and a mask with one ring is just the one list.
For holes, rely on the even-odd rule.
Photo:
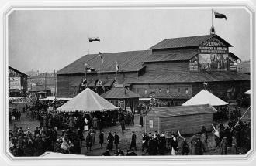
[[(216, 34), (230, 51), (250, 58), (250, 20), (244, 9), (215, 9), (227, 15), (213, 19)], [(59, 10), (15, 11), (9, 15), (9, 65), (27, 72), (59, 70), (90, 53), (144, 50), (162, 39), (208, 35), (211, 10)]]

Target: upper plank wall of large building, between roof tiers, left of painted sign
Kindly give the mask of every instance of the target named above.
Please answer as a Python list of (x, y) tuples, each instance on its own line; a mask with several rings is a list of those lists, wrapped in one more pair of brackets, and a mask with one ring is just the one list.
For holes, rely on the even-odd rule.
[(147, 63), (146, 73), (178, 73), (189, 72), (189, 61), (171, 63)]

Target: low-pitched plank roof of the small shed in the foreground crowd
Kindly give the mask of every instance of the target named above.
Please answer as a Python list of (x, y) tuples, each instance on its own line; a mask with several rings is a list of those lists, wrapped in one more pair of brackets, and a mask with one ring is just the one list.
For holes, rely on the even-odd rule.
[(194, 106), (177, 106), (177, 107), (154, 107), (153, 113), (157, 117), (177, 117), (184, 115), (195, 115), (203, 113), (216, 113), (216, 109), (209, 104)]

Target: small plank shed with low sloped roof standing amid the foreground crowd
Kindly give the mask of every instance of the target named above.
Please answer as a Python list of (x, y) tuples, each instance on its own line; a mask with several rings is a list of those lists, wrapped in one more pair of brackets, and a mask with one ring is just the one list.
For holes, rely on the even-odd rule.
[(209, 104), (178, 107), (154, 107), (146, 116), (145, 130), (147, 133), (158, 131), (180, 131), (181, 134), (199, 133), (202, 126), (213, 130), (213, 113), (216, 109)]

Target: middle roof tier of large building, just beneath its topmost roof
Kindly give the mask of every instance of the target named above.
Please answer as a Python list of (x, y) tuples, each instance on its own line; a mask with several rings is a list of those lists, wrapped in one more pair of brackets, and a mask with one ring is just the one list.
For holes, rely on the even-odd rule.
[(145, 60), (145, 63), (149, 62), (163, 62), (163, 61), (181, 61), (181, 60), (189, 60), (192, 57), (198, 54), (197, 50), (184, 50), (184, 52), (180, 53), (168, 53), (168, 54), (152, 54), (148, 56), (148, 59)]

